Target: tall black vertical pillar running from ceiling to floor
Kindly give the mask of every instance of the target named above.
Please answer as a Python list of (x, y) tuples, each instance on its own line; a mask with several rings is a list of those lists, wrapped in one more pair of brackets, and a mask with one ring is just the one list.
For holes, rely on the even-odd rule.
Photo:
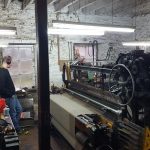
[(50, 150), (49, 59), (47, 0), (35, 0), (37, 28), (39, 150)]

